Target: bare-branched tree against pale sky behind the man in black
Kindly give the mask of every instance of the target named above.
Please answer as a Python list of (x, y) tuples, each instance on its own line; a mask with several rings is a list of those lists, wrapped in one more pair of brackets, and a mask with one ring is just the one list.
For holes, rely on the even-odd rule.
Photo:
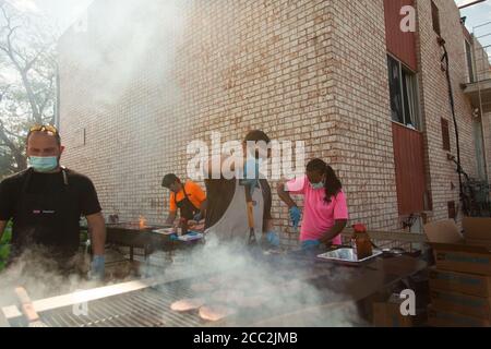
[(27, 167), (29, 125), (55, 121), (55, 48), (47, 21), (0, 0), (0, 177)]

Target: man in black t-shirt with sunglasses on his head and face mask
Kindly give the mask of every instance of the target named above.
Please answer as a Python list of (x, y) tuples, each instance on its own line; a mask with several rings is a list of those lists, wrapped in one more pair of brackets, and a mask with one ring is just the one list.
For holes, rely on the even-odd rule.
[(27, 251), (56, 262), (63, 273), (77, 268), (80, 219), (87, 218), (94, 260), (92, 274), (105, 269), (106, 226), (92, 181), (60, 166), (61, 139), (53, 127), (34, 127), (26, 141), (29, 168), (0, 183), (0, 239), (12, 219), (9, 265)]

